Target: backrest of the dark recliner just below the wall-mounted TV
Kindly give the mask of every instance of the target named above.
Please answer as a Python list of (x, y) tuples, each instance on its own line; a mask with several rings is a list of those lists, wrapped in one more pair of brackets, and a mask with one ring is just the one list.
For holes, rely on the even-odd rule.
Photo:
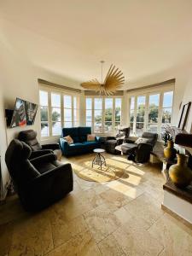
[(32, 148), (32, 151), (41, 150), (42, 147), (37, 140), (37, 132), (34, 130), (20, 131), (18, 139)]

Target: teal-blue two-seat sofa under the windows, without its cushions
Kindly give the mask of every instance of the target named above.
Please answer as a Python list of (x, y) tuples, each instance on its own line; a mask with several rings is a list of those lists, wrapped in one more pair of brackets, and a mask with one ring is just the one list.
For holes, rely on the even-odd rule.
[[(91, 127), (63, 128), (60, 138), (60, 147), (63, 155), (70, 156), (91, 152), (94, 148), (100, 148), (100, 137), (95, 142), (87, 142), (87, 135), (91, 134)], [(73, 144), (68, 144), (63, 137), (70, 135)]]

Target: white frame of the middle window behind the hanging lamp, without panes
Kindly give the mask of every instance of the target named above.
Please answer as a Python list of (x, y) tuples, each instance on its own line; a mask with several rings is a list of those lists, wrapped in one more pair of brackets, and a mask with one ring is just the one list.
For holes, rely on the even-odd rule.
[[(86, 108), (86, 99), (90, 98), (92, 103), (92, 108)], [(95, 106), (94, 102), (96, 98), (102, 98), (102, 131), (101, 132), (95, 132)], [(112, 131), (105, 131), (104, 125), (105, 125), (105, 99), (112, 98), (113, 99), (113, 113), (112, 113)], [(123, 96), (84, 96), (85, 101), (85, 123), (87, 123), (86, 120), (86, 110), (91, 110), (91, 130), (92, 132), (99, 134), (99, 135), (106, 135), (106, 134), (113, 134), (115, 131), (115, 99), (121, 99), (121, 113), (120, 113), (120, 125), (122, 123), (122, 103), (123, 103)]]

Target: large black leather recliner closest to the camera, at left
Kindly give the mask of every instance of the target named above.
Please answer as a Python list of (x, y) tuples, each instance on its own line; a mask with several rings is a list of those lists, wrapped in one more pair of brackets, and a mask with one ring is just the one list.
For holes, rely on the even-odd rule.
[(7, 148), (6, 165), (15, 191), (26, 211), (48, 207), (73, 190), (70, 164), (56, 160), (55, 154), (45, 154), (29, 160), (32, 149), (15, 139)]

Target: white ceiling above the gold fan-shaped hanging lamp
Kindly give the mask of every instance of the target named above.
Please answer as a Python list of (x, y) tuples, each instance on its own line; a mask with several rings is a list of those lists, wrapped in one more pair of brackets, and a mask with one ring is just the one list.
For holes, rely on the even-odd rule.
[(80, 82), (111, 63), (125, 87), (192, 59), (191, 0), (0, 0), (1, 34), (37, 67)]

